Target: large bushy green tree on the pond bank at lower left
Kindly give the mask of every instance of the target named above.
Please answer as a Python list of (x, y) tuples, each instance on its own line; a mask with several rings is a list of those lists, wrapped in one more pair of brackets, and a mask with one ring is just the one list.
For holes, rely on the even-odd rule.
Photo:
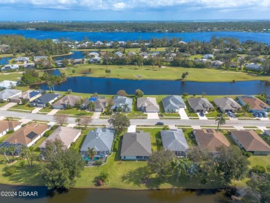
[(70, 188), (74, 186), (75, 179), (80, 177), (84, 170), (82, 156), (76, 150), (66, 149), (59, 139), (46, 141), (44, 159), (46, 164), (40, 173), (44, 184), (49, 188)]

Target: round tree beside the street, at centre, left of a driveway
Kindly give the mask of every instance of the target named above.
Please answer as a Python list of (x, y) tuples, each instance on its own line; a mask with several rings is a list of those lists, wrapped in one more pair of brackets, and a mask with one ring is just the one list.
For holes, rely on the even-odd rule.
[(109, 118), (109, 124), (114, 126), (116, 132), (122, 132), (130, 125), (129, 118), (124, 114), (115, 114)]

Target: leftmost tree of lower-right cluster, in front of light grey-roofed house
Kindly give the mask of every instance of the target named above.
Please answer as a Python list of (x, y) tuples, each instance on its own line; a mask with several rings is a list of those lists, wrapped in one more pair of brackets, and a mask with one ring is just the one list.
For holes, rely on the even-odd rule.
[(170, 173), (171, 162), (174, 158), (176, 158), (176, 155), (170, 150), (152, 152), (147, 161), (147, 166), (152, 173), (156, 173), (156, 177), (166, 177)]

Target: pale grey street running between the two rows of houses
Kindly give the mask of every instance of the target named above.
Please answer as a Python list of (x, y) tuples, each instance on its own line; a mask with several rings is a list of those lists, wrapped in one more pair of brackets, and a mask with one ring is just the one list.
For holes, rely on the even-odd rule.
[[(27, 118), (31, 120), (39, 121), (53, 121), (53, 116), (43, 115), (43, 114), (29, 114), (24, 112), (11, 112), (0, 110), (0, 116), (12, 116), (15, 118)], [(165, 125), (217, 125), (215, 120), (199, 120), (199, 119), (189, 119), (189, 120), (180, 120), (180, 119), (162, 119), (162, 120), (147, 120), (147, 119), (131, 119), (131, 125), (154, 125), (157, 122), (163, 122)], [(68, 123), (75, 124), (75, 118), (69, 117)], [(107, 125), (107, 119), (93, 119), (92, 125)], [(226, 120), (226, 126), (257, 126), (257, 127), (267, 127), (270, 126), (270, 121), (258, 121), (258, 120)]]

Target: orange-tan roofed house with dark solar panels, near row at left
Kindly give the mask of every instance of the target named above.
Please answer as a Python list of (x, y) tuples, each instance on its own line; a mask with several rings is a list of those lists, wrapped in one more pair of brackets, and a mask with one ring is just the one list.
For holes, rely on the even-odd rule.
[[(21, 127), (21, 129), (17, 130), (14, 134), (12, 134), (12, 136), (5, 139), (3, 141), (3, 145), (19, 144), (20, 146), (25, 145), (30, 147), (34, 145), (34, 143), (41, 138), (44, 132), (46, 132), (49, 128), (51, 128), (50, 125), (41, 123), (27, 124), (24, 127)], [(20, 148), (17, 148), (17, 150), (19, 151)]]

